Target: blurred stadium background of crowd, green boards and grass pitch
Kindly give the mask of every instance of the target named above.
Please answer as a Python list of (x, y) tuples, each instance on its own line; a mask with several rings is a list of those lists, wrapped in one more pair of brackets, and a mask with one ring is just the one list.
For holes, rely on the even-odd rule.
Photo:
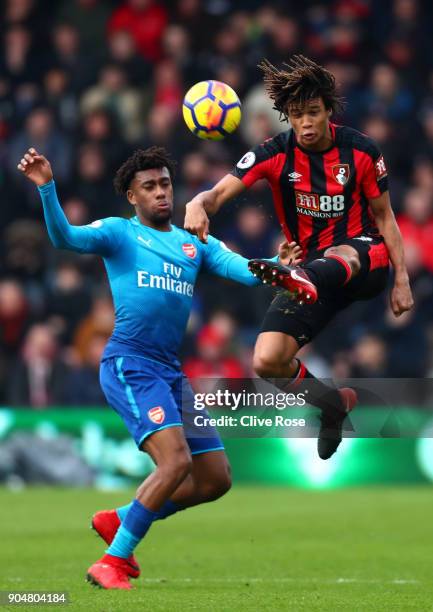
[[(346, 439), (328, 462), (316, 458), (315, 440), (228, 440), (243, 486), (155, 525), (132, 592), (85, 584), (103, 550), (89, 517), (124, 504), (134, 488), (116, 487), (152, 466), (111, 409), (94, 408), (113, 324), (102, 263), (50, 245), (36, 190), (16, 163), (30, 144), (45, 153), (70, 221), (82, 224), (130, 214), (114, 196), (113, 173), (135, 147), (162, 144), (179, 164), (182, 224), (193, 194), (281, 129), (258, 60), (310, 55), (342, 86), (347, 107), (336, 120), (383, 149), (416, 306), (397, 320), (386, 296), (357, 305), (304, 359), (319, 376), (430, 377), (432, 13), (427, 0), (1, 2), (0, 589), (69, 591), (74, 610), (431, 608), (431, 436)], [(180, 113), (187, 88), (209, 78), (232, 85), (243, 103), (240, 130), (217, 144), (190, 135)], [(247, 257), (273, 253), (269, 193), (257, 185), (212, 231)], [(265, 288), (203, 278), (187, 372), (250, 375), (269, 299)], [(417, 414), (428, 427), (429, 411)]]

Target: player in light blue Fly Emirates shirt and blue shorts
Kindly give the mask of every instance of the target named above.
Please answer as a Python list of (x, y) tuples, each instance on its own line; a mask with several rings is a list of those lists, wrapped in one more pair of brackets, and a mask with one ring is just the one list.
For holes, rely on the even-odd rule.
[(97, 253), (107, 270), (116, 321), (101, 362), (101, 385), (156, 469), (132, 503), (94, 515), (92, 526), (109, 548), (87, 577), (106, 589), (130, 589), (129, 577), (140, 572), (132, 553), (152, 522), (230, 488), (217, 431), (192, 427), (193, 394), (177, 358), (197, 274), (207, 270), (246, 285), (260, 281), (248, 260), (220, 241), (209, 236), (203, 244), (171, 224), (173, 162), (162, 148), (136, 151), (116, 174), (115, 187), (136, 216), (80, 227), (66, 219), (45, 157), (31, 148), (18, 168), (38, 186), (54, 246)]

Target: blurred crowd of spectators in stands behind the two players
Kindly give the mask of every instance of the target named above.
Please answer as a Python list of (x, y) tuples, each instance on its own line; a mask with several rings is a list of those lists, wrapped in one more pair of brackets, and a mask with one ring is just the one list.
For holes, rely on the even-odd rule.
[[(52, 162), (73, 224), (131, 215), (112, 187), (136, 147), (178, 161), (175, 222), (185, 203), (251, 146), (286, 129), (258, 61), (301, 52), (325, 64), (346, 98), (335, 117), (383, 149), (416, 306), (396, 319), (388, 296), (338, 315), (303, 349), (317, 375), (422, 377), (433, 372), (433, 7), (427, 0), (5, 0), (0, 31), (0, 402), (43, 408), (104, 402), (98, 364), (113, 327), (102, 262), (55, 250), (39, 197), (16, 171), (30, 145)], [(185, 91), (231, 85), (238, 132), (209, 143), (182, 122)], [(261, 183), (212, 220), (246, 257), (280, 241)], [(272, 297), (203, 277), (183, 349), (192, 377), (250, 376)]]

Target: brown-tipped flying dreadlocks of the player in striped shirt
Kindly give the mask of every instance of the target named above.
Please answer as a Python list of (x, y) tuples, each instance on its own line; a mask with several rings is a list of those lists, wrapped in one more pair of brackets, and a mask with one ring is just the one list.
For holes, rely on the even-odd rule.
[(287, 120), (290, 105), (302, 107), (313, 98), (322, 98), (325, 108), (332, 112), (343, 108), (334, 75), (308, 57), (294, 55), (289, 63), (283, 63), (281, 70), (267, 59), (258, 67), (263, 71), (266, 93), (280, 113), (280, 119)]

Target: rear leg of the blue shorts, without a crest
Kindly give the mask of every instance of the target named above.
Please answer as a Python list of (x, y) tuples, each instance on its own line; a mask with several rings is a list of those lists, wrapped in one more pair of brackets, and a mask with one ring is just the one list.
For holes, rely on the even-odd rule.
[(224, 444), (214, 425), (209, 423), (208, 411), (196, 407), (196, 395), (188, 378), (181, 374), (172, 386), (173, 397), (182, 415), (182, 424), (185, 437), (194, 457), (210, 453), (211, 451), (224, 451)]

